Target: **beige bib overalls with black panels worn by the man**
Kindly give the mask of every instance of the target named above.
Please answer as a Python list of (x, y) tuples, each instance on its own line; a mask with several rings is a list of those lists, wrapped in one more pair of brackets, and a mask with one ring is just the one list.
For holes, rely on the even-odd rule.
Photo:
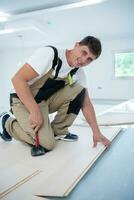
[[(85, 88), (78, 83), (69, 85), (67, 78), (56, 78), (53, 69), (30, 85), (31, 92), (38, 103), (44, 117), (44, 123), (39, 129), (39, 144), (48, 150), (55, 146), (54, 136), (67, 134), (78, 115), (85, 95)], [(55, 89), (56, 88), (56, 89)], [(10, 117), (6, 130), (20, 141), (35, 144), (35, 131), (29, 124), (29, 111), (16, 96), (12, 96), (11, 110), (15, 118)], [(57, 112), (50, 123), (49, 113)]]

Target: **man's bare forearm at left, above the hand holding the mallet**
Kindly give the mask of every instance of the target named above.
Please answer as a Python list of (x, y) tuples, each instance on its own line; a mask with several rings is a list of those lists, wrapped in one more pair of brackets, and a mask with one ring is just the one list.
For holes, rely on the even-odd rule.
[(27, 82), (20, 77), (14, 77), (12, 78), (12, 83), (17, 95), (28, 111), (31, 113), (32, 111), (39, 110), (39, 106), (34, 100), (33, 94), (31, 93)]

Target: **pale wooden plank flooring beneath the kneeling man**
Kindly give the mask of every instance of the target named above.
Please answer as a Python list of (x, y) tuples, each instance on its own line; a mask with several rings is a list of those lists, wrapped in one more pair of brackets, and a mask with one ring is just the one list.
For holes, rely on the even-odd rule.
[[(5, 199), (18, 199), (20, 195), (26, 197), (34, 194), (42, 196), (67, 196), (71, 192), (82, 176), (89, 170), (90, 165), (93, 164), (95, 159), (105, 149), (101, 144), (98, 144), (97, 148), (92, 148), (92, 132), (90, 128), (72, 127), (71, 131), (78, 133), (79, 140), (77, 142), (58, 141), (53, 151), (40, 157), (32, 157), (29, 147), (18, 142), (12, 142), (9, 146), (8, 144), (2, 145), (7, 145), (5, 155), (8, 154), (8, 157), (14, 155), (12, 157), (11, 168), (7, 157), (1, 157), (3, 162), (6, 160), (6, 164), (2, 165), (1, 169), (3, 172), (5, 170), (5, 174), (7, 171), (7, 175), (4, 175), (2, 180), (4, 184), (2, 186), (3, 190), (7, 186), (10, 188), (13, 185), (13, 182), (10, 185), (7, 181), (8, 173), (10, 173), (10, 176), (12, 174), (11, 180), (18, 183), (18, 180), (14, 179), (15, 173), (19, 174), (20, 171), (23, 171), (19, 176), (22, 179), (22, 177), (30, 174), (33, 166), (34, 169), (42, 171), (24, 184), (18, 185), (15, 190), (5, 196)], [(102, 129), (102, 133), (109, 139), (112, 139), (118, 131), (119, 128), (112, 127)], [(27, 173), (26, 176), (24, 176), (25, 171)], [(14, 182), (14, 185), (16, 183)]]

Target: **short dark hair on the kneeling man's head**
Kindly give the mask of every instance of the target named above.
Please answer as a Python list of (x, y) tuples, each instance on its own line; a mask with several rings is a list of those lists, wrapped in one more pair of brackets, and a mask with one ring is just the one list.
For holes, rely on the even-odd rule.
[(87, 36), (83, 38), (79, 42), (79, 44), (88, 46), (89, 50), (96, 56), (96, 58), (100, 56), (102, 47), (101, 42), (98, 38), (95, 38), (93, 36)]

